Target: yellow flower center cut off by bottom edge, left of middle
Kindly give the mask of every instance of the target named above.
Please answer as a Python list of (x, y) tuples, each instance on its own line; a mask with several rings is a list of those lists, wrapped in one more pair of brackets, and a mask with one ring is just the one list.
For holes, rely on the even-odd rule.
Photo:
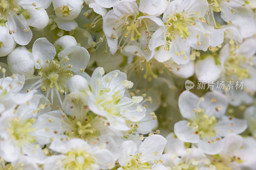
[(92, 169), (97, 159), (90, 153), (79, 149), (71, 150), (66, 154), (66, 158), (63, 159), (65, 169)]

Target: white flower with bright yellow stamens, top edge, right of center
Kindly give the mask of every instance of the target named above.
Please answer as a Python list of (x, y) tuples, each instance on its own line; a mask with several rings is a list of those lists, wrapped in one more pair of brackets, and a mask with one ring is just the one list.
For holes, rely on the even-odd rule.
[[(170, 2), (163, 16), (165, 43), (162, 44), (164, 45), (162, 50), (169, 51), (170, 55), (163, 56), (165, 58), (163, 61), (172, 57), (175, 63), (186, 64), (190, 60), (190, 47), (206, 51), (210, 45), (216, 46), (223, 42), (223, 32), (219, 33), (220, 36), (210, 37), (213, 32), (208, 31), (210, 28), (204, 28), (206, 19), (203, 16), (207, 6), (206, 0), (174, 0)], [(218, 44), (212, 44), (212, 41), (216, 41)], [(162, 54), (166, 55), (164, 52)]]

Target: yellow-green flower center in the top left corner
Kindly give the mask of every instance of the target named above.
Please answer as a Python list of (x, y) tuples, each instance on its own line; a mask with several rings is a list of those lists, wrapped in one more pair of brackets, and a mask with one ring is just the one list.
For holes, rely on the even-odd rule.
[(7, 20), (9, 15), (13, 12), (20, 13), (22, 7), (17, 0), (0, 0), (0, 18)]

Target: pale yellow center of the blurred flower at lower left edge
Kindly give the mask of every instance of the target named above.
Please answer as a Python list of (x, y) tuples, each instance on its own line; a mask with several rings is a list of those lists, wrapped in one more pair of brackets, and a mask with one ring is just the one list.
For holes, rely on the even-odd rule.
[(36, 121), (35, 118), (27, 119), (26, 121), (20, 120), (19, 117), (15, 117), (10, 121), (10, 126), (7, 128), (11, 138), (16, 141), (16, 144), (19, 146), (30, 142), (33, 143), (36, 140), (36, 137), (31, 136), (31, 132), (36, 129), (31, 128), (33, 123)]

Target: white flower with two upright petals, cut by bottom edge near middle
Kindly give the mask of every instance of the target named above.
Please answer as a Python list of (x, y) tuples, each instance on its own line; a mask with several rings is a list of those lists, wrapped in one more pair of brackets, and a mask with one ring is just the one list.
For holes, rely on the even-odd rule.
[(151, 169), (152, 170), (167, 170), (161, 165), (160, 159), (166, 139), (161, 135), (150, 135), (140, 146), (137, 146), (133, 141), (125, 141), (120, 146), (121, 156), (119, 157), (118, 170), (122, 169)]

